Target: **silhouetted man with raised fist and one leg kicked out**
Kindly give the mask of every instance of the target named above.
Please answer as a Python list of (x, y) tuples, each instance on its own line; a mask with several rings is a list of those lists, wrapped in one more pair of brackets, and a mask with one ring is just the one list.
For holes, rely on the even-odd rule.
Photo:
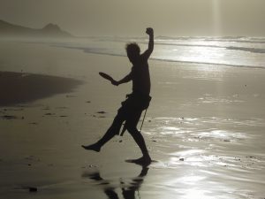
[[(137, 124), (140, 119), (141, 112), (148, 109), (151, 100), (150, 88), (150, 74), (148, 67), (148, 58), (154, 50), (154, 31), (148, 27), (146, 33), (149, 35), (148, 50), (140, 54), (140, 47), (137, 43), (128, 43), (126, 45), (126, 52), (130, 62), (133, 64), (132, 71), (122, 80), (113, 80), (109, 75), (107, 79), (113, 85), (129, 82), (133, 80), (133, 93), (127, 95), (125, 102), (122, 102), (121, 108), (117, 111), (117, 116), (113, 120), (112, 125), (102, 136), (98, 142), (94, 144), (82, 146), (84, 149), (95, 150), (99, 152), (102, 146), (109, 142), (115, 134), (119, 134), (119, 130), (125, 121), (125, 129), (133, 136), (134, 141), (140, 147), (142, 157), (133, 162), (140, 165), (149, 165), (151, 158), (148, 154), (148, 149), (142, 134), (137, 130)], [(106, 78), (106, 77), (105, 77)]]

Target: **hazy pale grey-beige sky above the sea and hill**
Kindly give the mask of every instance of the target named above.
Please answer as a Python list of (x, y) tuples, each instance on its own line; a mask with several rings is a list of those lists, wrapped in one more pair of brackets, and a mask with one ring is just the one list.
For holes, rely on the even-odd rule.
[(265, 0), (0, 0), (0, 19), (76, 35), (265, 36)]

